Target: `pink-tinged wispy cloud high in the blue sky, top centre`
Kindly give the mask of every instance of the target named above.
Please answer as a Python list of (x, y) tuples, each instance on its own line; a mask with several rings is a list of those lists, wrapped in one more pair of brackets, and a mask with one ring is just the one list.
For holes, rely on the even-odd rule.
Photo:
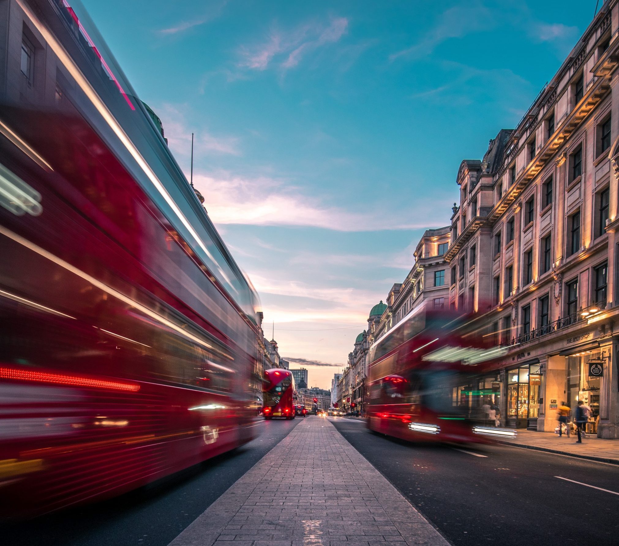
[(241, 46), (238, 66), (266, 70), (275, 64), (282, 70), (292, 69), (312, 51), (339, 41), (347, 29), (348, 19), (334, 17), (328, 24), (312, 22), (288, 31), (271, 30), (262, 43)]

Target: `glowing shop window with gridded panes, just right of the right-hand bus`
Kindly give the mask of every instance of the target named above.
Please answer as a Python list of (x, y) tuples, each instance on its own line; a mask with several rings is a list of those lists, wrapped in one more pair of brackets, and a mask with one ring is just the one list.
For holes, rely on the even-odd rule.
[(539, 360), (508, 369), (507, 421), (508, 427), (537, 430), (540, 410), (542, 373)]

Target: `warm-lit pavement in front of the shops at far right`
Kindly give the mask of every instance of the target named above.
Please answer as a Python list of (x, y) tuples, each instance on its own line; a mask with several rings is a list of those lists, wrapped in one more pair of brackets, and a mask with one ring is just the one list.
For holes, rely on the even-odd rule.
[(619, 440), (602, 440), (587, 434), (582, 443), (576, 443), (576, 435), (561, 438), (554, 432), (535, 432), (534, 430), (517, 430), (513, 440), (505, 438), (501, 443), (515, 444), (530, 450), (561, 453), (592, 461), (619, 464)]

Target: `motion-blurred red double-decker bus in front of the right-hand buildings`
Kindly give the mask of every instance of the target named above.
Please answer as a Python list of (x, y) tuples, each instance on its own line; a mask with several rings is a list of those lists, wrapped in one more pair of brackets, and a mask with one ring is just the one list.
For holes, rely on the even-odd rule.
[[(411, 441), (485, 442), (514, 435), (488, 422), (496, 389), (480, 389), (503, 348), (475, 333), (472, 315), (413, 310), (370, 349), (368, 427)], [(490, 409), (488, 409), (490, 414)]]

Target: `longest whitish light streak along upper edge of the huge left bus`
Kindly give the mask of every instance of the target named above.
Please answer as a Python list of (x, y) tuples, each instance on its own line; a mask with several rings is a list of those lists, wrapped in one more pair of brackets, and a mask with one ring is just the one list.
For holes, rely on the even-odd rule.
[(43, 35), (45, 41), (50, 45), (51, 49), (53, 49), (56, 56), (58, 56), (59, 61), (61, 61), (66, 67), (66, 69), (69, 70), (69, 73), (76, 80), (77, 84), (85, 93), (85, 95), (89, 98), (90, 102), (92, 102), (93, 106), (97, 108), (103, 119), (105, 119), (105, 121), (116, 134), (118, 139), (123, 143), (124, 147), (129, 151), (134, 160), (136, 160), (136, 163), (140, 166), (142, 171), (144, 171), (146, 176), (149, 177), (150, 182), (152, 182), (157, 191), (162, 195), (171, 210), (173, 210), (178, 219), (183, 223), (187, 231), (191, 234), (191, 236), (194, 238), (200, 248), (204, 250), (211, 262), (215, 264), (215, 266), (219, 270), (219, 273), (228, 283), (228, 286), (238, 294), (238, 290), (236, 290), (236, 288), (233, 286), (232, 281), (230, 281), (222, 268), (217, 266), (217, 260), (215, 260), (215, 257), (210, 254), (210, 251), (209, 249), (207, 249), (206, 244), (204, 244), (204, 241), (202, 241), (201, 237), (197, 234), (196, 230), (193, 228), (189, 220), (187, 220), (180, 207), (178, 207), (175, 200), (168, 193), (168, 190), (165, 189), (162, 182), (158, 179), (155, 171), (150, 168), (150, 165), (147, 163), (144, 157), (142, 157), (142, 154), (136, 148), (136, 145), (134, 145), (131, 139), (129, 139), (128, 135), (124, 132), (118, 121), (116, 121), (116, 118), (112, 115), (105, 103), (103, 103), (100, 96), (94, 90), (92, 85), (90, 85), (90, 82), (84, 77), (84, 74), (82, 74), (82, 71), (79, 69), (79, 67), (77, 67), (71, 57), (69, 57), (67, 52), (64, 50), (63, 46), (58, 42), (58, 40), (56, 40), (54, 35), (47, 29), (47, 27), (45, 27), (45, 25), (43, 25), (43, 23), (38, 20), (35, 14), (33, 14), (33, 12), (30, 10), (30, 8), (25, 6), (22, 0), (16, 1), (19, 6), (24, 10), (25, 14), (28, 15), (33, 25), (35, 25), (35, 27), (37, 27), (37, 30), (41, 33), (41, 35)]

